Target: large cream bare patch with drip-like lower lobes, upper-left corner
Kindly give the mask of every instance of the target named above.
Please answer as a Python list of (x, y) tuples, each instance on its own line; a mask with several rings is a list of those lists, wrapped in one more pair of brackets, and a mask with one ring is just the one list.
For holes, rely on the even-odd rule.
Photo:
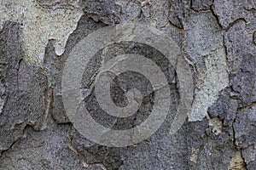
[(22, 27), (21, 42), (25, 59), (40, 64), (49, 39), (55, 39), (55, 53), (64, 53), (69, 35), (76, 29), (83, 14), (79, 0), (61, 6), (40, 6), (35, 0), (3, 0), (0, 4), (0, 29), (3, 22), (12, 20)]

